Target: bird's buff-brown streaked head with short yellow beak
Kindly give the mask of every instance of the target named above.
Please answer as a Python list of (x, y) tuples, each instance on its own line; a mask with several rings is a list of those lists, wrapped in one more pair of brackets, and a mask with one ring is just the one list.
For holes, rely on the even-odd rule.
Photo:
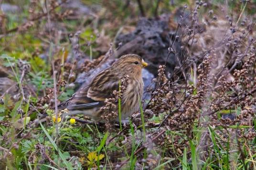
[(147, 65), (148, 63), (146, 63), (139, 55), (127, 54), (120, 57), (112, 65), (112, 69), (124, 73), (124, 75), (129, 74), (131, 77), (140, 78), (142, 68)]

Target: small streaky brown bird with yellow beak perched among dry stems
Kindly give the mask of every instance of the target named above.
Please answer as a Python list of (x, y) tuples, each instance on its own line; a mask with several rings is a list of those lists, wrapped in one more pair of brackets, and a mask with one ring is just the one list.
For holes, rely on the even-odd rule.
[(68, 115), (85, 114), (92, 120), (103, 121), (100, 109), (104, 101), (111, 98), (114, 90), (118, 91), (119, 81), (128, 75), (128, 85), (121, 99), (121, 119), (125, 120), (139, 110), (144, 86), (142, 68), (147, 65), (139, 55), (123, 55), (111, 67), (96, 74), (88, 86), (60, 103), (58, 109), (68, 109)]

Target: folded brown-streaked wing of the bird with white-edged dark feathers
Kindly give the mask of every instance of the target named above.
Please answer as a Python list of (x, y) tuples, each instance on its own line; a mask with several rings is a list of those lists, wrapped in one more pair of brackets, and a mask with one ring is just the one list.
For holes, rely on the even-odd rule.
[(60, 103), (59, 109), (79, 110), (90, 109), (103, 105), (114, 90), (118, 90), (119, 80), (110, 70), (98, 73), (89, 86), (78, 90), (70, 99)]

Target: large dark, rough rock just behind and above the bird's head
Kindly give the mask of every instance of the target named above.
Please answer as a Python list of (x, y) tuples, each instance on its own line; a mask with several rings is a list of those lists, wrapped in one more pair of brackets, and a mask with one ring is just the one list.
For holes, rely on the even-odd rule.
[[(121, 42), (123, 46), (117, 50), (116, 56), (134, 53), (140, 55), (149, 63), (148, 70), (157, 75), (159, 65), (166, 62), (167, 71), (172, 73), (177, 59), (182, 59), (181, 43), (176, 35), (168, 29), (168, 20), (141, 19), (136, 29), (130, 33), (119, 33), (115, 45)], [(173, 43), (168, 57), (170, 44)], [(176, 53), (176, 55), (175, 55)]]

